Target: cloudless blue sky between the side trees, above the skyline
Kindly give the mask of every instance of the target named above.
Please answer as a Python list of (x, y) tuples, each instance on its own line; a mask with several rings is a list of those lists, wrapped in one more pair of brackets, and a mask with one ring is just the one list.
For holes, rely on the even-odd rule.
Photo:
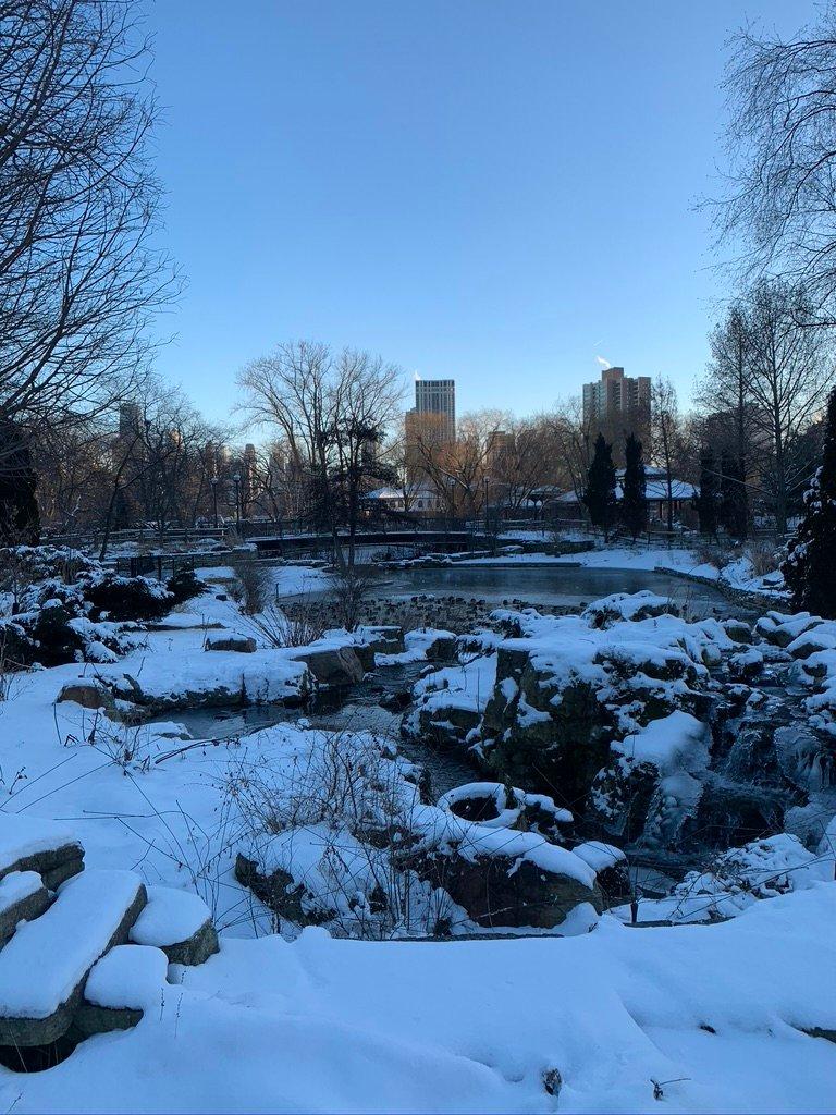
[(289, 338), (527, 414), (602, 356), (706, 361), (728, 35), (807, 0), (157, 0), (167, 236), (158, 368), (212, 418)]

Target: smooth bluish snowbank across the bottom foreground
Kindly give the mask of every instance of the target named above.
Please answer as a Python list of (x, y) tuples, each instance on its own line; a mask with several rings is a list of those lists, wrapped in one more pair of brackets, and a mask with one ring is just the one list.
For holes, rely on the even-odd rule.
[(0, 1101), (16, 1113), (650, 1112), (657, 1080), (671, 1112), (829, 1112), (836, 1047), (803, 1030), (836, 1026), (834, 918), (836, 888), (819, 884), (721, 925), (227, 940), (134, 1030), (49, 1073), (0, 1075)]

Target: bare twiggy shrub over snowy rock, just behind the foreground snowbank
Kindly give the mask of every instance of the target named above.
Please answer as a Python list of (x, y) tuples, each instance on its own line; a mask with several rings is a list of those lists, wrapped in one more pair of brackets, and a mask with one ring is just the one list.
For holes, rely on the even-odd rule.
[(242, 759), (225, 791), (244, 846), (263, 849), (282, 880), (271, 892), (280, 917), (367, 940), (449, 921), (449, 896), (410, 870), (419, 796), (385, 740), (311, 734), (292, 763)]

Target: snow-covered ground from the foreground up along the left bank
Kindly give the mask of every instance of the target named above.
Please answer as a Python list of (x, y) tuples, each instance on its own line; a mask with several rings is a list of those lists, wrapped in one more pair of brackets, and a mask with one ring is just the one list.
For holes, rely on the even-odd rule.
[[(203, 575), (223, 582), (214, 572)], [(307, 591), (313, 572), (279, 569), (279, 592)], [(754, 901), (722, 924), (631, 928), (605, 914), (573, 938), (449, 942), (270, 932), (233, 875), (229, 779), (299, 762), (304, 726), (195, 745), (174, 725), (127, 728), (55, 704), (67, 682), (126, 673), (156, 696), (241, 685), (275, 696), (298, 683), (291, 651), (205, 651), (210, 624), (254, 634), (234, 603), (200, 597), (116, 662), (20, 675), (0, 704), (3, 811), (66, 825), (88, 867), (196, 891), (221, 931), (220, 953), (172, 967), (135, 1029), (94, 1037), (46, 1073), (0, 1068), (0, 1108), (836, 1109), (836, 1044), (809, 1032), (836, 1031), (832, 881)], [(561, 648), (573, 667), (583, 659), (582, 643)], [(494, 668), (487, 657), (445, 668), (465, 711), (482, 709)], [(156, 970), (158, 957), (147, 957)]]

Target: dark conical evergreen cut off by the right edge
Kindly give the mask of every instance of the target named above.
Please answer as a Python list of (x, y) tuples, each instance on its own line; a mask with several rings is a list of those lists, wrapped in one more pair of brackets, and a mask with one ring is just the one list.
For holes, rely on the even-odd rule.
[(827, 404), (822, 465), (804, 496), (805, 514), (787, 547), (781, 572), (793, 605), (836, 619), (836, 389)]

